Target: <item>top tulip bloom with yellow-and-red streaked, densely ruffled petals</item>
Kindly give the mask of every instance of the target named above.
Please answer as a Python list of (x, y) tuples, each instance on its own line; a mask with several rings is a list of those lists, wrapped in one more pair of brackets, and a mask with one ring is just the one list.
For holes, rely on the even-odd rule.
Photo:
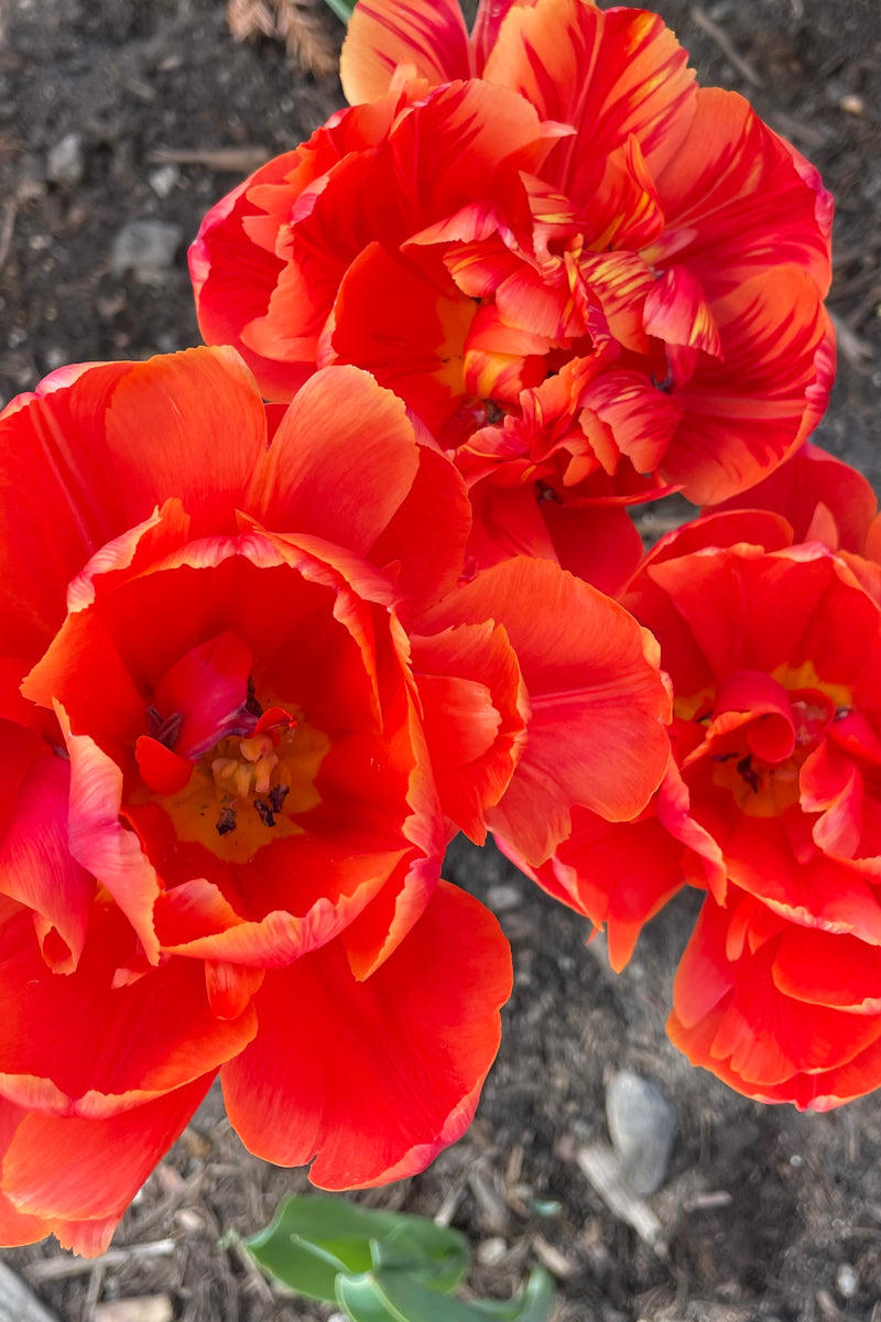
[(268, 398), (369, 368), (456, 455), (478, 564), (606, 587), (626, 505), (719, 502), (820, 418), (831, 200), (660, 19), (590, 0), (367, 0), (351, 108), (258, 171), (192, 249), (199, 324)]

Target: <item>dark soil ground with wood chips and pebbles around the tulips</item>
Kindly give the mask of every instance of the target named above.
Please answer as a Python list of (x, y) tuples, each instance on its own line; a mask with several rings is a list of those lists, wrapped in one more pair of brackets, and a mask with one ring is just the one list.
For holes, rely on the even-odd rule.
[[(701, 81), (746, 93), (836, 193), (841, 364), (819, 440), (878, 486), (881, 0), (658, 9)], [(342, 34), (329, 15), (326, 33)], [(0, 0), (0, 399), (62, 362), (198, 342), (184, 254), (201, 215), (338, 104), (333, 77), (268, 41), (235, 45), (222, 0)], [(168, 254), (127, 256), (132, 221), (177, 226), (161, 231)], [(602, 940), (585, 949), (586, 925), (499, 855), (456, 847), (448, 875), (499, 911), (514, 947), (502, 1051), (468, 1136), (424, 1175), (359, 1196), (452, 1220), (481, 1293), (510, 1293), (543, 1261), (560, 1280), (556, 1322), (881, 1322), (878, 1099), (827, 1116), (762, 1108), (674, 1051), (663, 1025), (692, 898), (614, 977)], [(647, 1204), (654, 1244), (577, 1161), (608, 1142), (605, 1088), (621, 1067), (678, 1113)], [(141, 1301), (116, 1313), (132, 1322), (313, 1322), (329, 1310), (269, 1289), (236, 1239), (305, 1187), (242, 1149), (213, 1093), (107, 1260), (53, 1243), (3, 1257), (62, 1322), (112, 1322), (123, 1300)]]

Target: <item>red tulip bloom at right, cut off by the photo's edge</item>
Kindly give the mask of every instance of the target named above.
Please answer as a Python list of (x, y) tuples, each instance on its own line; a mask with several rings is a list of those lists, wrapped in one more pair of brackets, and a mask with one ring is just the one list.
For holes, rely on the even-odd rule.
[[(790, 510), (829, 527), (810, 467), (826, 471), (832, 505), (836, 479), (847, 488), (857, 475), (819, 452), (803, 461)], [(873, 588), (877, 566), (794, 543), (771, 512), (711, 516), (663, 539), (623, 602), (660, 642), (675, 765), (639, 822), (580, 813), (538, 870), (552, 894), (608, 921), (618, 964), (679, 884), (705, 890), (672, 1040), (740, 1092), (816, 1110), (881, 1085)]]

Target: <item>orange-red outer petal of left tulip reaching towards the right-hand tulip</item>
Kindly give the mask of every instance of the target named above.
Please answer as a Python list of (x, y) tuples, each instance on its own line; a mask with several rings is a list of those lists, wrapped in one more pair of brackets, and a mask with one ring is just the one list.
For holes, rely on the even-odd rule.
[(487, 821), (538, 866), (568, 836), (575, 804), (612, 821), (642, 812), (670, 756), (668, 697), (635, 620), (546, 561), (482, 571), (433, 625), (485, 619), (505, 623), (532, 705), (526, 750)]

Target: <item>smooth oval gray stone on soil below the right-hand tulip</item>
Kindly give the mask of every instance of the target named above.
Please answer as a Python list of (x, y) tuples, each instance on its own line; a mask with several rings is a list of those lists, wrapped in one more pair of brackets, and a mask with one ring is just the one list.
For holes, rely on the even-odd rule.
[(641, 1198), (654, 1194), (670, 1166), (676, 1133), (672, 1103), (656, 1084), (622, 1069), (606, 1089), (606, 1118), (625, 1181)]

